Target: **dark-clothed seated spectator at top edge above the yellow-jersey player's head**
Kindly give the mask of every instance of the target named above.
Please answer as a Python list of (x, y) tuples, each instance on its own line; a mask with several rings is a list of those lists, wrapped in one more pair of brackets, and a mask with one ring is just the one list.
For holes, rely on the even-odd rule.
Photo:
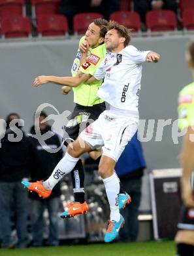
[(106, 20), (112, 12), (119, 11), (119, 0), (61, 0), (59, 13), (67, 16), (69, 29), (73, 30), (74, 14), (82, 12), (99, 12)]

